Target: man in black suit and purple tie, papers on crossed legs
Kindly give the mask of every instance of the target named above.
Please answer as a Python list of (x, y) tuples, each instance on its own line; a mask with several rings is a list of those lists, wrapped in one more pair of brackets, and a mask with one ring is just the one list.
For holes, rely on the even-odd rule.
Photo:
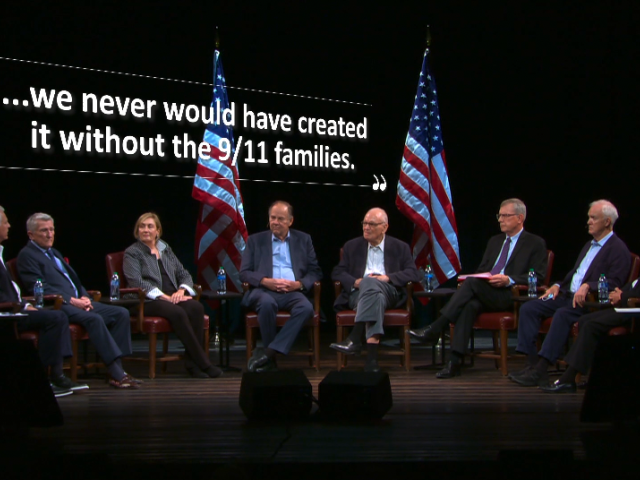
[(469, 343), (473, 322), (482, 311), (508, 310), (512, 306), (511, 286), (526, 284), (530, 269), (542, 283), (547, 270), (545, 242), (524, 231), (527, 208), (522, 200), (510, 198), (502, 202), (497, 215), (501, 235), (489, 239), (478, 267), (478, 273), (490, 277), (468, 278), (442, 309), (441, 316), (431, 325), (409, 333), (422, 341), (434, 341), (449, 323), (455, 323), (451, 340), (451, 358), (436, 374), (438, 378), (460, 375), (460, 365)]

